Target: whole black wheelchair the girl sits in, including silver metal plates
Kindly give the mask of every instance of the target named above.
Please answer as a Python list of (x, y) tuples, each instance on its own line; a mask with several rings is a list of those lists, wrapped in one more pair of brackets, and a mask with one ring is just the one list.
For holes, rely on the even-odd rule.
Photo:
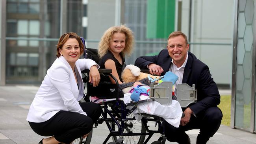
[[(85, 41), (82, 37), (81, 40), (85, 48)], [(93, 59), (96, 63), (99, 62), (97, 49), (85, 48), (83, 57)], [(89, 102), (92, 96), (96, 96), (100, 99), (113, 99), (112, 101), (101, 104), (102, 115), (95, 124), (96, 128), (105, 122), (109, 129), (109, 134), (103, 144), (106, 144), (110, 138), (113, 142), (109, 142), (108, 144), (147, 144), (154, 133), (160, 133), (161, 137), (152, 144), (165, 144), (166, 137), (161, 123), (163, 118), (151, 114), (139, 113), (139, 115), (142, 116), (142, 119), (138, 122), (132, 112), (143, 102), (156, 101), (163, 105), (170, 105), (172, 100), (172, 83), (162, 82), (162, 85), (151, 83), (150, 99), (125, 104), (122, 101), (124, 93), (122, 90), (119, 90), (118, 81), (111, 74), (112, 70), (99, 69), (99, 72), (101, 79), (102, 77), (110, 76), (115, 80), (116, 84), (100, 81), (97, 87), (93, 87), (91, 83), (88, 83), (89, 70), (84, 70), (82, 71), (82, 74), (84, 75), (83, 82), (87, 85), (87, 93), (84, 95), (83, 99), (86, 102)], [(180, 84), (177, 89), (178, 96), (182, 96), (178, 98), (182, 107), (187, 107), (190, 103), (195, 103), (197, 101), (197, 90), (195, 90), (195, 85), (190, 87), (187, 84)], [(128, 106), (133, 106), (133, 108), (128, 109)], [(158, 126), (157, 129), (150, 129), (148, 122), (155, 122), (155, 126)], [(76, 139), (73, 144), (89, 144), (91, 142), (91, 137), (92, 131), (86, 138), (81, 137)]]

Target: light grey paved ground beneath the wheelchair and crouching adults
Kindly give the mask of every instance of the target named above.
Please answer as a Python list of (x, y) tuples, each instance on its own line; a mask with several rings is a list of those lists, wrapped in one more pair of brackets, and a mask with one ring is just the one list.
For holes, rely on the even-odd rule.
[[(37, 86), (0, 86), (0, 144), (37, 144), (43, 138), (34, 133), (26, 121), (29, 106), (37, 90)], [(231, 91), (222, 90), (220, 93), (231, 94)], [(195, 144), (198, 130), (187, 133), (191, 143)], [(106, 125), (99, 125), (93, 129), (91, 144), (102, 144), (107, 135)], [(159, 135), (155, 134), (151, 140), (157, 140), (158, 137)], [(166, 144), (175, 144), (175, 142), (166, 142)], [(221, 125), (208, 144), (256, 144), (256, 134)]]

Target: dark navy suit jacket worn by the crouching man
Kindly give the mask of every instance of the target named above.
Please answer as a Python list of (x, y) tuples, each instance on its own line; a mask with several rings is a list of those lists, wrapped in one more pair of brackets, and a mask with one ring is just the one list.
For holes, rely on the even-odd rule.
[[(168, 50), (165, 49), (155, 56), (138, 57), (134, 65), (141, 69), (148, 69), (148, 64), (155, 63), (163, 68), (163, 73), (161, 73), (161, 76), (163, 76), (169, 71), (172, 64), (171, 61), (172, 58)], [(195, 114), (220, 103), (219, 90), (213, 78), (211, 78), (208, 66), (197, 59), (191, 52), (188, 52), (182, 83), (187, 83), (191, 87), (193, 84), (196, 86), (198, 102), (189, 106)]]

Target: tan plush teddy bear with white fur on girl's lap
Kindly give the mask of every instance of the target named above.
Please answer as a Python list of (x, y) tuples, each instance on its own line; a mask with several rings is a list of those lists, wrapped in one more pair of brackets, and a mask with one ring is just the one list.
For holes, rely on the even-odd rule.
[(151, 74), (141, 72), (141, 69), (135, 65), (127, 65), (121, 74), (122, 81), (124, 83), (139, 81), (143, 78), (148, 78), (148, 76), (150, 76), (152, 79), (159, 78), (159, 76), (153, 76)]

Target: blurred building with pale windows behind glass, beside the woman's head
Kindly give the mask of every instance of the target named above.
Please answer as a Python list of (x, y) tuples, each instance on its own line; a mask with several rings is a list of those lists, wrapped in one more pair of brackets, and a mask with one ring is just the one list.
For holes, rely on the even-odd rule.
[(86, 38), (82, 0), (6, 0), (6, 83), (39, 84), (62, 33)]

